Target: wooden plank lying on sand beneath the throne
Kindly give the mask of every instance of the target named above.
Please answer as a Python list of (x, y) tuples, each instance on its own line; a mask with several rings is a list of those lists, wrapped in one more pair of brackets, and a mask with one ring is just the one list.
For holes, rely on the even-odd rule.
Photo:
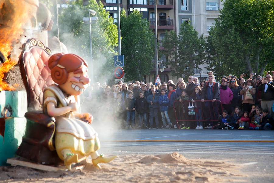
[[(44, 170), (44, 171), (57, 171), (57, 170), (67, 171), (68, 170), (65, 166), (53, 167), (49, 165), (41, 165), (41, 164), (18, 160), (18, 158), (9, 158), (7, 159), (7, 163), (11, 164), (14, 167), (18, 165), (18, 166), (29, 167), (29, 168)], [(80, 166), (72, 167), (71, 170), (79, 170), (79, 169), (82, 170), (84, 167), (85, 165), (80, 165)]]

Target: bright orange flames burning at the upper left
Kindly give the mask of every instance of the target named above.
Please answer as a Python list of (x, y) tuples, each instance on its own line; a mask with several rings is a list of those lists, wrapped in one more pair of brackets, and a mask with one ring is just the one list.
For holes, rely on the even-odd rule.
[(0, 91), (15, 90), (13, 86), (5, 83), (3, 78), (4, 74), (18, 62), (18, 60), (9, 58), (9, 54), (13, 50), (12, 43), (20, 39), (20, 35), (23, 34), (22, 26), (26, 23), (27, 12), (28, 9), (23, 0), (0, 0), (0, 20), (2, 20), (0, 22), (0, 51), (6, 59), (0, 68)]

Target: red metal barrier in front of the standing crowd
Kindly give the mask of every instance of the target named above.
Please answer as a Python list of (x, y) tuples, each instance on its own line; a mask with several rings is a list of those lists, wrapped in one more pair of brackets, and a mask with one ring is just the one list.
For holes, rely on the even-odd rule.
[[(201, 112), (202, 112), (202, 120), (196, 120), (195, 115), (188, 115), (189, 102), (192, 103), (191, 100), (186, 100), (186, 101), (183, 101), (183, 102), (174, 101), (174, 103), (173, 103), (173, 110), (174, 110), (175, 119), (176, 119), (178, 129), (179, 129), (178, 121), (179, 122), (180, 121), (181, 122), (184, 122), (184, 121), (203, 121), (203, 122), (204, 121), (216, 121), (217, 122), (219, 116), (216, 116), (216, 114), (214, 113), (214, 111), (213, 111), (214, 106), (215, 106), (215, 109), (217, 110), (218, 114), (219, 114), (219, 108), (223, 112), (223, 105), (222, 105), (222, 102), (220, 100), (216, 100), (215, 102), (212, 102), (212, 100), (205, 100), (205, 102), (202, 102), (201, 100), (195, 100), (195, 102), (193, 102), (193, 105), (195, 106), (196, 102), (197, 102), (197, 105), (200, 104)], [(208, 102), (208, 103), (210, 102), (212, 106), (211, 107), (207, 106), (208, 103), (206, 104), (206, 102)], [(210, 105), (210, 103), (209, 103), (209, 105)], [(177, 113), (180, 114), (181, 110), (183, 109), (183, 105), (184, 105), (185, 113), (187, 113), (187, 116), (188, 116), (189, 119), (181, 119), (182, 115), (179, 115), (179, 118), (177, 116)], [(203, 110), (204, 111), (209, 110), (209, 111), (206, 111), (206, 113), (209, 113), (209, 114), (204, 114)], [(213, 113), (213, 115), (211, 115), (211, 113)]]

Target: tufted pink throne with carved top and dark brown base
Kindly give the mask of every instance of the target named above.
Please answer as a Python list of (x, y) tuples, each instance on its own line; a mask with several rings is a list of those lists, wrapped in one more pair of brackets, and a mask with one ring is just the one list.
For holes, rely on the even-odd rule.
[(27, 92), (28, 112), (26, 132), (16, 154), (36, 163), (61, 163), (54, 147), (55, 119), (42, 112), (43, 91), (54, 83), (47, 65), (51, 51), (36, 39), (27, 40), (22, 47), (19, 67)]

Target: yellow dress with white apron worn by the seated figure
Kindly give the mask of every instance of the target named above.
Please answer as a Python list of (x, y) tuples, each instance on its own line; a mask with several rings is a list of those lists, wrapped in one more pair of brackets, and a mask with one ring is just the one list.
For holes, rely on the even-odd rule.
[[(59, 108), (68, 106), (70, 100), (77, 102), (76, 96), (65, 97), (58, 85), (52, 84), (44, 90), (43, 111), (47, 114), (48, 102), (53, 102), (55, 108)], [(61, 160), (64, 160), (63, 150), (78, 154), (78, 162), (80, 162), (90, 153), (100, 149), (97, 132), (90, 124), (75, 118), (73, 112), (54, 118), (56, 120), (55, 148)]]

